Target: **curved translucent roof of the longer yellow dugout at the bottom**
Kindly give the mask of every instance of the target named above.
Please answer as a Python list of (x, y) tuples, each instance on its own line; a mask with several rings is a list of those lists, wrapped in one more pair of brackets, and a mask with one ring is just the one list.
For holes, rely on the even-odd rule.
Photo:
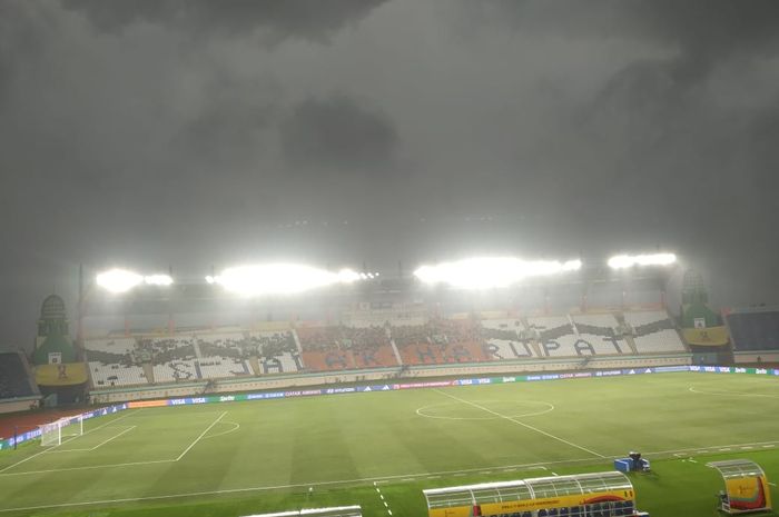
[(624, 474), (609, 471), (432, 488), (422, 493), (427, 499), (427, 509), (434, 509), (632, 489)]

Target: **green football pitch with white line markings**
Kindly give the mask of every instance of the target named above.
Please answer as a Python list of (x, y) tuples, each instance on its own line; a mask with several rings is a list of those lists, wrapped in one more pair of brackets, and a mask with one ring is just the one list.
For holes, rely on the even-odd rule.
[[(779, 380), (657, 374), (131, 409), (0, 454), (0, 517), (243, 516), (361, 505), (424, 516), (423, 488), (612, 470), (638, 507), (718, 515), (706, 463), (779, 479)], [(772, 486), (775, 501), (779, 491)], [(765, 514), (763, 514), (765, 515)], [(776, 514), (775, 514), (776, 515)]]

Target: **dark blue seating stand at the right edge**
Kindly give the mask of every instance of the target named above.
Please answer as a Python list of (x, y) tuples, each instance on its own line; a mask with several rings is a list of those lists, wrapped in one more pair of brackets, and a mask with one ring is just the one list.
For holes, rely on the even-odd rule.
[(724, 319), (734, 350), (779, 350), (779, 309), (743, 309)]

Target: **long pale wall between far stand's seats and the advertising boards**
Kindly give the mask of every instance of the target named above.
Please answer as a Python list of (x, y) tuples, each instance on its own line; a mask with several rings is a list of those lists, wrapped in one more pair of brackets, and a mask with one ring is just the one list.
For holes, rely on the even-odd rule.
[[(591, 356), (590, 356), (591, 357)], [(114, 404), (131, 400), (159, 399), (170, 397), (190, 397), (204, 395), (208, 386), (209, 394), (227, 394), (253, 390), (288, 389), (310, 386), (341, 385), (364, 381), (402, 382), (408, 379), (430, 377), (513, 375), (527, 372), (581, 371), (584, 369), (630, 369), (665, 366), (687, 366), (692, 364), (689, 354), (670, 356), (634, 356), (603, 359), (568, 359), (461, 364), (461, 365), (428, 365), (416, 366), (404, 370), (398, 376), (397, 368), (375, 368), (371, 370), (342, 370), (331, 374), (285, 375), (274, 377), (255, 377), (250, 379), (220, 380), (216, 385), (208, 381), (174, 384), (152, 387), (115, 388), (110, 390), (92, 390), (92, 404)]]

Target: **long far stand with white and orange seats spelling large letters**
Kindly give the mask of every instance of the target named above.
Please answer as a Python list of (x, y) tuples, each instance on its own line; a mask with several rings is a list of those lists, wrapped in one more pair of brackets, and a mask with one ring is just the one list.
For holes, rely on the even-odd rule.
[[(170, 337), (92, 339), (85, 348), (95, 387), (687, 352), (674, 321), (663, 310), (503, 315), (493, 312), (482, 320), (464, 315), (425, 320), (416, 314), (414, 318), (387, 318), (383, 324), (381, 318), (355, 317), (348, 325), (312, 321), (294, 328), (274, 324), (265, 330), (235, 327)], [(775, 317), (779, 321), (779, 312)]]

